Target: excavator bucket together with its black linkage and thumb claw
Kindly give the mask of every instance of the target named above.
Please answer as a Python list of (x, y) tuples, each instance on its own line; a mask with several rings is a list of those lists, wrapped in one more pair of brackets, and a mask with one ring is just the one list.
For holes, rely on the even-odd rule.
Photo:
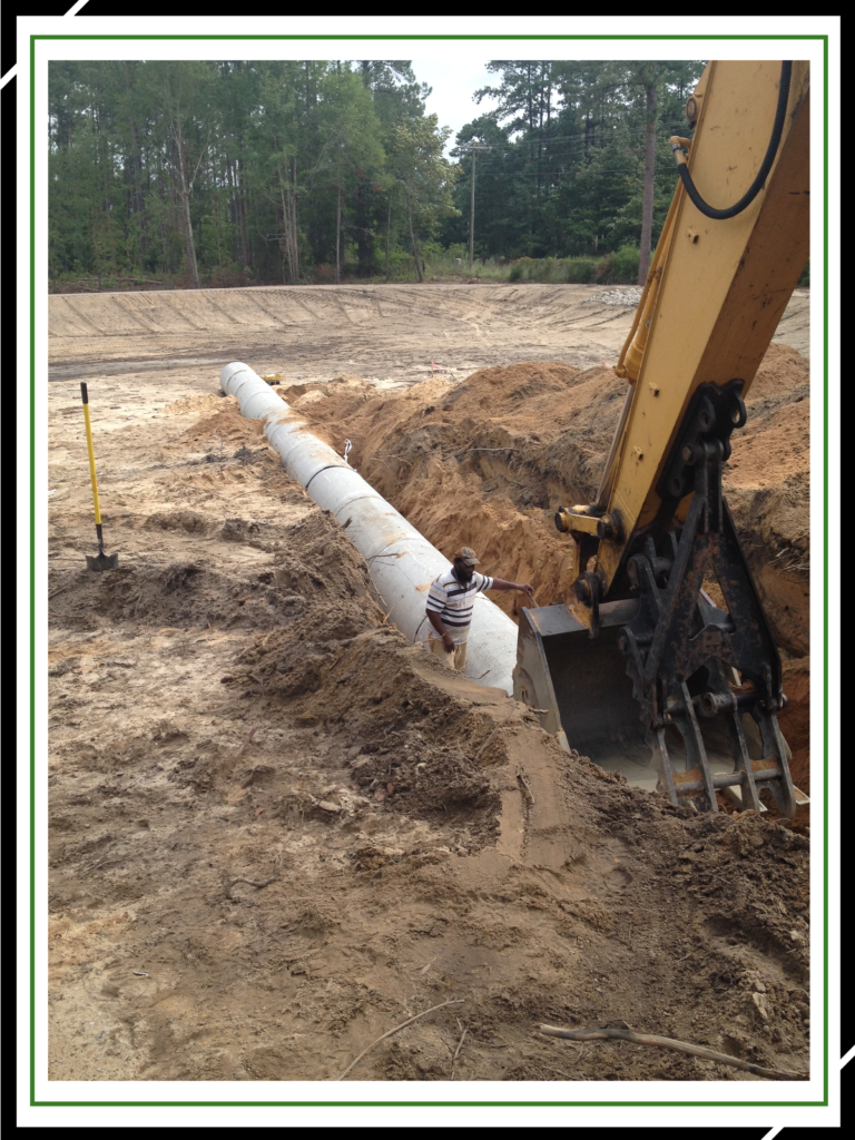
[[(746, 422), (741, 389), (734, 380), (695, 392), (657, 487), (660, 510), (628, 545), (608, 598), (587, 571), (573, 606), (522, 611), (514, 695), (603, 766), (641, 772), (652, 752), (650, 779), (674, 806), (716, 812), (720, 790), (759, 813), (768, 788), (791, 819), (781, 659), (722, 495), (730, 434)], [(717, 579), (726, 609), (705, 579)]]

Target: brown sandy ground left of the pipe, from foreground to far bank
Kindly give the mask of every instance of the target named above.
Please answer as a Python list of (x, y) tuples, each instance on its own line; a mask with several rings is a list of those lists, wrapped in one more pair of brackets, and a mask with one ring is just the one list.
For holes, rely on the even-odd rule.
[[(505, 363), (579, 368), (584, 315), (616, 355), (630, 310), (570, 288), (583, 316), (565, 360), (559, 332), (539, 356), (512, 349), (538, 298), (557, 307), (549, 286), (292, 292), (50, 302), (51, 1078), (331, 1081), (445, 1002), (349, 1080), (756, 1080), (578, 1050), (538, 1021), (628, 1023), (804, 1070), (809, 832), (675, 811), (408, 645), (344, 535), (199, 363), (264, 370), (302, 351), (315, 378), (359, 368), (398, 399), (435, 359), (434, 328), (467, 367), (496, 363), (495, 337)], [(259, 317), (267, 357), (226, 317), (204, 326), (230, 298), (249, 324), (252, 304), (303, 294), (321, 311), (301, 328)], [(125, 334), (122, 310), (142, 303), (156, 327)], [(374, 325), (336, 328), (349, 304)], [(79, 376), (120, 554), (103, 576), (83, 569)]]

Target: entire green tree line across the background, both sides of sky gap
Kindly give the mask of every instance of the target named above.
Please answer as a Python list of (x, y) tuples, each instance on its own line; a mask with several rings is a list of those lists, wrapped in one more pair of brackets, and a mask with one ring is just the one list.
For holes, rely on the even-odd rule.
[(643, 262), (701, 67), (494, 60), (449, 158), (410, 60), (55, 62), (50, 280), (421, 279), (469, 239), (473, 145), (479, 256)]

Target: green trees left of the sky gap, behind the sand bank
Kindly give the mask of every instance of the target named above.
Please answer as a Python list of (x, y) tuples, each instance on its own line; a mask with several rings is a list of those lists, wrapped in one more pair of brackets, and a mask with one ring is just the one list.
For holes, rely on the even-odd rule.
[(51, 64), (51, 287), (380, 272), (455, 212), (425, 91), (407, 60)]

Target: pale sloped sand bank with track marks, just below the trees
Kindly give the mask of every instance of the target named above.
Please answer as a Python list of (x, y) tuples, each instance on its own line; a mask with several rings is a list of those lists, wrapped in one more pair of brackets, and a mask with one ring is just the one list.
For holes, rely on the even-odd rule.
[[(465, 375), (518, 360), (587, 368), (617, 360), (637, 291), (588, 285), (309, 285), (101, 293), (50, 299), (51, 377), (252, 361), (288, 381), (413, 383), (431, 360)], [(604, 299), (604, 300), (600, 300)], [(611, 302), (611, 303), (606, 303)], [(809, 292), (798, 290), (775, 340), (808, 350)], [(83, 370), (80, 370), (83, 375)]]

